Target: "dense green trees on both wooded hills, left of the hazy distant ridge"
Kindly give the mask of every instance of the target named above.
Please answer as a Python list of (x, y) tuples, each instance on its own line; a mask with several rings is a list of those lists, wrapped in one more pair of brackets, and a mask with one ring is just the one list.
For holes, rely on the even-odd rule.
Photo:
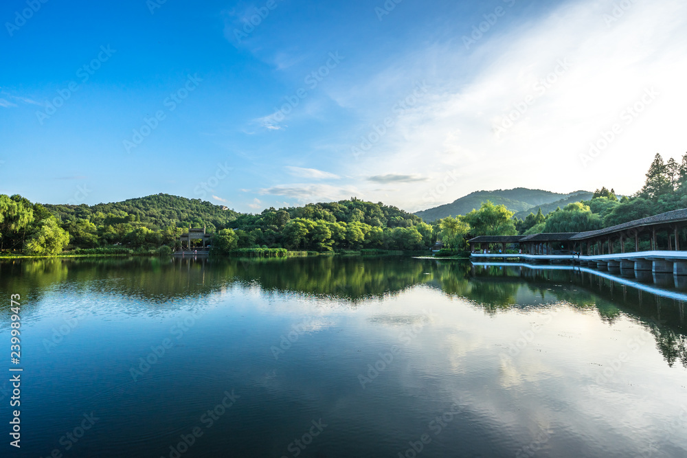
[(418, 251), (436, 241), (435, 229), (418, 216), (357, 198), (252, 215), (167, 194), (93, 206), (40, 205), (21, 196), (0, 196), (0, 249), (10, 253), (23, 249), (25, 254), (55, 255), (66, 248), (86, 254), (166, 254), (179, 247), (179, 236), (189, 225), (214, 233), (212, 251), (224, 255), (238, 255), (240, 249), (267, 257), (273, 252), (262, 250)]

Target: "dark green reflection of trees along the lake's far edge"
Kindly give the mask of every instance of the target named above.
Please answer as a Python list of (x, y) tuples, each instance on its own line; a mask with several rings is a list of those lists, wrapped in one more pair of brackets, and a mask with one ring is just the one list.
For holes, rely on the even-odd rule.
[(233, 284), (260, 286), (264, 292), (346, 299), (351, 306), (427, 284), (447, 295), (469, 299), (489, 314), (552, 301), (594, 308), (610, 323), (625, 314), (655, 334), (669, 364), (676, 360), (685, 364), (684, 301), (678, 300), (687, 299), (684, 277), (637, 274), (636, 279), (628, 280), (580, 267), (471, 264), (407, 257), (115, 257), (0, 262), (0, 290), (25, 291), (31, 303), (36, 303), (45, 292), (69, 284), (72, 293), (124, 295), (144, 299), (150, 307), (165, 304), (169, 310), (182, 304), (174, 299), (207, 296)]

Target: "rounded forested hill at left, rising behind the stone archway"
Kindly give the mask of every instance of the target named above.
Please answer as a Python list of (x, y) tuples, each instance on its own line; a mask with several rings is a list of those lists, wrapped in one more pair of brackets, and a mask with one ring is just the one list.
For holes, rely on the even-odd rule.
[(212, 229), (228, 227), (238, 213), (223, 209), (200, 199), (190, 199), (170, 194), (128, 199), (123, 202), (99, 203), (98, 205), (43, 205), (59, 220), (74, 219), (100, 221), (113, 225), (124, 222), (141, 222), (152, 229), (164, 227), (200, 227), (204, 224)]

